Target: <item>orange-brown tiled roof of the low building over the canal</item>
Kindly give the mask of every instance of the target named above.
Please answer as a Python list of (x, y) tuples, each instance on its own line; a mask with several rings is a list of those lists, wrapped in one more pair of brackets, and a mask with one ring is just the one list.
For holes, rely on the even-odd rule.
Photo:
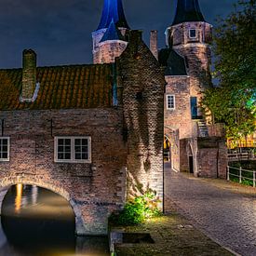
[(20, 102), (22, 69), (0, 70), (0, 110), (70, 109), (112, 105), (112, 65), (38, 67), (34, 102)]

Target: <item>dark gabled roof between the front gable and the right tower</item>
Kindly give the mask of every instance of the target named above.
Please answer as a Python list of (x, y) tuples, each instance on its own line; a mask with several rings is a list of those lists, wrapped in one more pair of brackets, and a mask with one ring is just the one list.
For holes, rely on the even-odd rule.
[(161, 49), (158, 60), (166, 67), (165, 75), (187, 75), (185, 60), (174, 49)]

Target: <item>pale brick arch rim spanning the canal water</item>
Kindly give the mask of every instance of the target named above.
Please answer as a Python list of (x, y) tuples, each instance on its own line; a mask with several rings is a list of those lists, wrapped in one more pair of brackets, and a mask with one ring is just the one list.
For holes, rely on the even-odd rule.
[(69, 202), (71, 208), (74, 211), (75, 234), (78, 236), (86, 234), (85, 222), (82, 217), (81, 209), (79, 205), (75, 202), (75, 200), (72, 198), (72, 195), (70, 195), (70, 193), (67, 190), (50, 182), (38, 182), (38, 180), (34, 181), (34, 179), (27, 176), (8, 177), (7, 179), (0, 180), (0, 215), (2, 211), (2, 203), (7, 194), (8, 189), (16, 184), (34, 185), (42, 187), (64, 197)]

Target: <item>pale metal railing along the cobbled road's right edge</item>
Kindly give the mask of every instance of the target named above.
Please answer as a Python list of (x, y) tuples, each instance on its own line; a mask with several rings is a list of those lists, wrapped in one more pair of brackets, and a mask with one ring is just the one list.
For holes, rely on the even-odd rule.
[(256, 170), (227, 167), (227, 181), (246, 183), (256, 187)]

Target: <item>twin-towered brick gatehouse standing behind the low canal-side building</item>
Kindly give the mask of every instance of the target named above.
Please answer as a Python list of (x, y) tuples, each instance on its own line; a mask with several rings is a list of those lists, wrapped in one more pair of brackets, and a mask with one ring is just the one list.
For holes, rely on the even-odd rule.
[[(171, 160), (172, 168), (195, 176), (224, 178), (225, 141), (218, 131), (209, 129), (199, 107), (204, 90), (211, 87), (211, 30), (197, 0), (178, 0), (166, 30), (167, 47), (158, 50), (157, 32), (152, 31), (150, 49), (165, 70), (165, 160)], [(94, 62), (118, 62), (134, 43), (129, 32), (121, 1), (104, 1), (100, 25), (92, 33)]]

